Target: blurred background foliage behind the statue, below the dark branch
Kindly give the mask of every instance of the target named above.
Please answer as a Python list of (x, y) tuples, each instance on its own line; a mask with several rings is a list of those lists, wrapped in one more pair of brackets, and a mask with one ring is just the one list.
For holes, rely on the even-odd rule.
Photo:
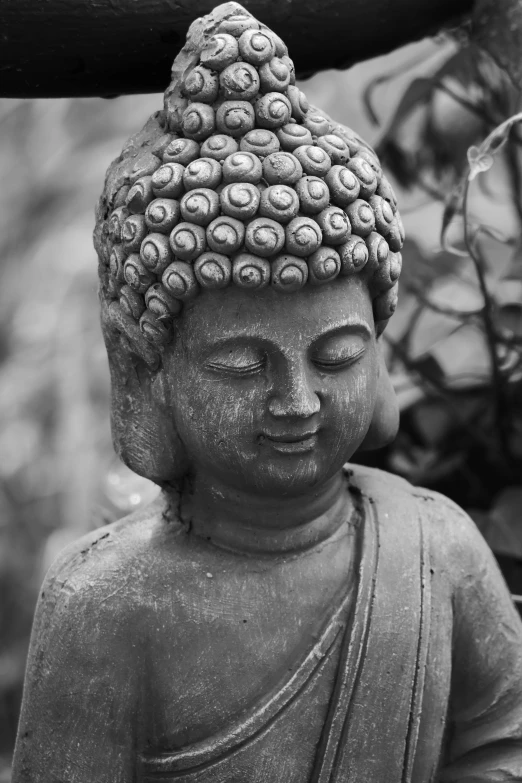
[[(480, 147), (520, 95), (448, 37), (301, 86), (376, 145), (408, 237), (385, 332), (401, 429), (360, 459), (466, 508), (522, 593), (521, 131)], [(0, 101), (0, 783), (44, 571), (156, 492), (112, 451), (91, 232), (105, 169), (160, 104)]]

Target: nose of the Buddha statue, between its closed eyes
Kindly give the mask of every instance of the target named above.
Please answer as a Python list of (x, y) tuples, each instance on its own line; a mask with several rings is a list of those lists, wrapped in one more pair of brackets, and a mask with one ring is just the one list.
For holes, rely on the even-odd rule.
[(288, 368), (276, 379), (268, 410), (275, 418), (308, 419), (319, 413), (321, 401), (306, 367)]

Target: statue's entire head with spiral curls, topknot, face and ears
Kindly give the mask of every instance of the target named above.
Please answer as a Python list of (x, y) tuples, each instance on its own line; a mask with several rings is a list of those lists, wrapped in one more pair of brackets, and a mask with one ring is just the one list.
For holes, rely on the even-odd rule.
[(393, 436), (403, 239), (377, 156), (309, 106), (281, 39), (236, 3), (196, 20), (97, 209), (123, 461), (288, 493)]

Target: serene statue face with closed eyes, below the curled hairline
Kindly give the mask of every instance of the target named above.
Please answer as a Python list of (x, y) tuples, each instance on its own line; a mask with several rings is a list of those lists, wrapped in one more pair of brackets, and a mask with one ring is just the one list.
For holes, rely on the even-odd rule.
[(377, 361), (365, 284), (205, 292), (185, 307), (162, 372), (195, 471), (243, 491), (309, 491), (370, 425)]

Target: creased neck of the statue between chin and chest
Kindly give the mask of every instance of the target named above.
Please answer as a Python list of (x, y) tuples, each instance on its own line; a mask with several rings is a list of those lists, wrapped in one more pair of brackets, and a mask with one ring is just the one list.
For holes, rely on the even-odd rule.
[(266, 498), (199, 475), (182, 489), (181, 498), (168, 499), (195, 535), (252, 554), (308, 549), (334, 535), (353, 513), (341, 472), (314, 493), (297, 498)]

